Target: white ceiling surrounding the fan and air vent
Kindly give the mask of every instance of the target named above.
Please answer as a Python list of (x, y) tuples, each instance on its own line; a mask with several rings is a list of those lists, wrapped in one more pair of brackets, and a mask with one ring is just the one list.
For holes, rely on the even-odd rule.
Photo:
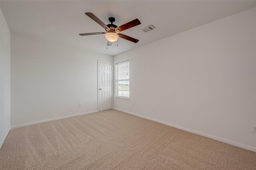
[[(10, 30), (47, 41), (74, 45), (90, 51), (117, 55), (175, 35), (182, 31), (219, 20), (256, 6), (256, 1), (12, 1), (1, 0), (0, 5)], [(122, 31), (139, 39), (132, 43), (124, 39), (106, 49), (104, 35), (80, 36), (78, 33), (101, 32), (104, 29), (86, 16), (92, 12), (105, 24), (114, 17), (114, 24), (122, 25), (138, 18), (141, 25)], [(142, 28), (153, 25), (153, 31)]]

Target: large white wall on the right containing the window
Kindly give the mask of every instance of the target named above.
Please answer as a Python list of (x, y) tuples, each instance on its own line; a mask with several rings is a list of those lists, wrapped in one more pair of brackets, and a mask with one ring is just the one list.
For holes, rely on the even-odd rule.
[(256, 151), (256, 8), (114, 56), (126, 60), (130, 100), (115, 108)]

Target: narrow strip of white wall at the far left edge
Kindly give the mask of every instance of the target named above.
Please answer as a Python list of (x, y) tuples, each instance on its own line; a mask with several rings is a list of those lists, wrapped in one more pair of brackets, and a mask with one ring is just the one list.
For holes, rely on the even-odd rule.
[(0, 149), (10, 131), (10, 30), (0, 13)]

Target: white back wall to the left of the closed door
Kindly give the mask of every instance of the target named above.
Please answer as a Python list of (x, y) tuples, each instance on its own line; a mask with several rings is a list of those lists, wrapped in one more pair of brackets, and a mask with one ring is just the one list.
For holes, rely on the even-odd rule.
[(112, 56), (16, 33), (11, 55), (11, 126), (97, 111), (97, 61)]

